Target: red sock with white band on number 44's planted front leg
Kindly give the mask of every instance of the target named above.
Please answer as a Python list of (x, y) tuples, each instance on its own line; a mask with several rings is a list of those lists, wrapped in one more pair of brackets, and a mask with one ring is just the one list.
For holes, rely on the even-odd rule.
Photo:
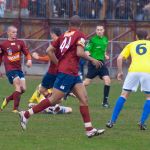
[(82, 115), (82, 119), (83, 119), (86, 131), (92, 130), (93, 127), (91, 124), (88, 106), (80, 106), (80, 113)]

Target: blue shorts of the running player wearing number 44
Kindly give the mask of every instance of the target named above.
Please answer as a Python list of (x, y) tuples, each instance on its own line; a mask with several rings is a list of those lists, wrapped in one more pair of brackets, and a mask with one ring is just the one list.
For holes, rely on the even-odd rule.
[(82, 83), (79, 76), (73, 76), (64, 73), (58, 73), (56, 81), (54, 83), (54, 88), (67, 93), (71, 91), (75, 84)]

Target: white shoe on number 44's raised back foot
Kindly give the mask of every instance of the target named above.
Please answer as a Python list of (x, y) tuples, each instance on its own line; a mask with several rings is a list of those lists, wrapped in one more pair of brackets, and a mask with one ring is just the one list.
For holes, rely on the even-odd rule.
[(28, 119), (24, 116), (24, 113), (25, 113), (25, 111), (20, 111), (19, 112), (19, 117), (20, 117), (20, 125), (21, 125), (22, 129), (26, 130)]

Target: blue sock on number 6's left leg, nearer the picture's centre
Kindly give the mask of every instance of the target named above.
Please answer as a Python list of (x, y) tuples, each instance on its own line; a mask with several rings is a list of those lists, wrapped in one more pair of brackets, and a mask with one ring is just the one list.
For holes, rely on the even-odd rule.
[(111, 117), (112, 122), (116, 122), (118, 115), (119, 115), (120, 111), (122, 110), (125, 101), (126, 101), (126, 99), (124, 97), (121, 97), (121, 96), (116, 101), (116, 105), (114, 107), (113, 114)]

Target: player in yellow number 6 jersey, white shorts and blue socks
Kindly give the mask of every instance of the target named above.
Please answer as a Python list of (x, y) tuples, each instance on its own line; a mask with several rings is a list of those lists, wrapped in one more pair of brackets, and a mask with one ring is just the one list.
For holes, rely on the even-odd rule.
[(140, 84), (141, 91), (145, 93), (146, 101), (140, 119), (140, 129), (145, 130), (145, 121), (150, 114), (150, 41), (145, 40), (148, 33), (144, 30), (137, 31), (137, 41), (128, 44), (118, 56), (118, 80), (123, 77), (122, 63), (124, 59), (131, 57), (132, 61), (128, 74), (123, 84), (123, 90), (116, 101), (111, 120), (106, 124), (112, 128), (122, 110), (129, 94), (135, 92)]

